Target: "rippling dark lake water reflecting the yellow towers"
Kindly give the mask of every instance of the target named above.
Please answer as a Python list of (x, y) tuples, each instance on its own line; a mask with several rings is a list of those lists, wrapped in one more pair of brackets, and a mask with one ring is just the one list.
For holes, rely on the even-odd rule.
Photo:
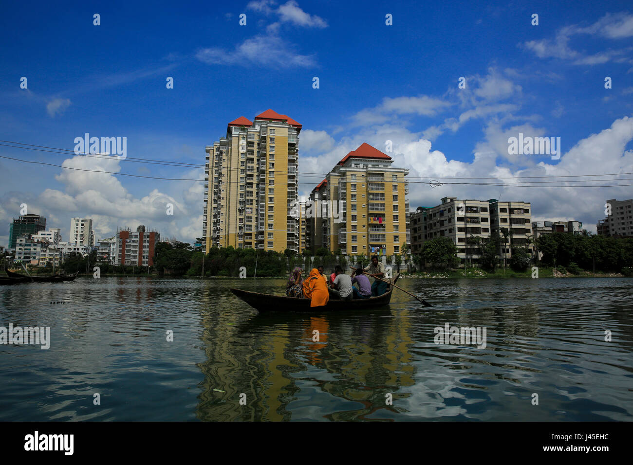
[[(434, 306), (394, 290), (383, 309), (260, 315), (229, 291), (285, 280), (0, 286), (0, 326), (51, 328), (48, 350), (0, 345), (0, 420), (633, 419), (632, 279), (398, 284)], [(435, 344), (445, 323), (485, 327), (486, 347)]]

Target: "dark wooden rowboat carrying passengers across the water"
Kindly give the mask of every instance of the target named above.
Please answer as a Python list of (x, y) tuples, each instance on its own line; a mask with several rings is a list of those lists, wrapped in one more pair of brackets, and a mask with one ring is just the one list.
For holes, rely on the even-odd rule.
[[(391, 283), (398, 281), (399, 273), (391, 279)], [(231, 288), (230, 291), (237, 295), (239, 299), (249, 304), (260, 313), (265, 312), (322, 312), (322, 311), (347, 311), (362, 310), (373, 307), (384, 307), (391, 301), (391, 293), (394, 287), (389, 285), (385, 294), (369, 299), (352, 299), (343, 301), (341, 299), (330, 299), (326, 306), (310, 307), (310, 299), (300, 297), (287, 297), (285, 295), (261, 294), (249, 290)]]

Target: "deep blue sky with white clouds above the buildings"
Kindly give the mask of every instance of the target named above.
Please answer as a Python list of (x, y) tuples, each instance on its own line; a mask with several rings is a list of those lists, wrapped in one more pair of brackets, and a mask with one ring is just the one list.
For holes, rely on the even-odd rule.
[[(26, 2), (5, 4), (0, 25), (2, 140), (72, 151), (75, 137), (88, 132), (127, 137), (128, 158), (203, 164), (204, 146), (225, 135), (229, 121), (252, 120), (272, 108), (303, 124), (299, 171), (318, 173), (299, 178), (303, 194), (362, 142), (384, 151), (385, 140), (392, 140), (396, 166), (410, 168), (411, 181), (420, 182), (410, 185), (412, 209), (436, 205), (445, 195), (530, 201), (534, 220), (580, 220), (595, 231), (606, 199), (633, 197), (633, 186), (428, 184), (449, 177), (633, 172), (633, 11), (627, 1)], [(21, 77), (27, 89), (20, 89)], [(173, 89), (166, 89), (167, 77)], [(460, 77), (466, 89), (458, 89)], [(508, 154), (508, 137), (519, 132), (560, 137), (561, 158)], [(203, 179), (203, 170), (128, 159), (6, 146), (0, 155)], [(8, 225), (22, 203), (46, 216), (47, 226), (62, 228), (64, 239), (73, 216), (93, 218), (99, 238), (138, 224), (186, 242), (202, 232), (203, 182), (3, 158), (0, 173), (0, 245), (8, 242)], [(604, 179), (627, 177), (633, 175)], [(173, 216), (165, 214), (168, 202), (175, 205)]]

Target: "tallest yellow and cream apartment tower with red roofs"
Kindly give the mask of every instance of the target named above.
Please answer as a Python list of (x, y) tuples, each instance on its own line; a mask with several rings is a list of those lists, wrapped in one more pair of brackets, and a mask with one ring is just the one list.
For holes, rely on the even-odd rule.
[(203, 238), (211, 247), (301, 252), (297, 201), (301, 124), (268, 109), (240, 116), (206, 147)]

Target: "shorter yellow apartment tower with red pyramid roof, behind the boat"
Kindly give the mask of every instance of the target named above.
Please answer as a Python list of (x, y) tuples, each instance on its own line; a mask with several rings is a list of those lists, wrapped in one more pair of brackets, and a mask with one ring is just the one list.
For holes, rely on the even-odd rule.
[(310, 244), (348, 255), (399, 254), (409, 233), (409, 171), (369, 144), (349, 152), (310, 194)]

